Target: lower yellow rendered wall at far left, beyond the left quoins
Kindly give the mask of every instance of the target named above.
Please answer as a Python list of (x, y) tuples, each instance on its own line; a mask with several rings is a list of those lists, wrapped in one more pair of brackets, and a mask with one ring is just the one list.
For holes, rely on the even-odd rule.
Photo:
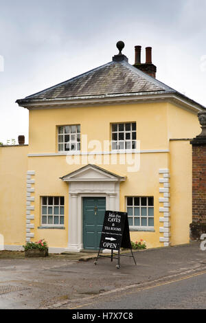
[(0, 147), (0, 234), (6, 248), (25, 244), (27, 150)]

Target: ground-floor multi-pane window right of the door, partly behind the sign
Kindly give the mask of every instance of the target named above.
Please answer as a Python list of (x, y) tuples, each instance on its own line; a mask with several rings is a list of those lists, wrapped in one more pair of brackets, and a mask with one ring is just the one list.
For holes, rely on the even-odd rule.
[(154, 227), (154, 197), (127, 197), (130, 227)]

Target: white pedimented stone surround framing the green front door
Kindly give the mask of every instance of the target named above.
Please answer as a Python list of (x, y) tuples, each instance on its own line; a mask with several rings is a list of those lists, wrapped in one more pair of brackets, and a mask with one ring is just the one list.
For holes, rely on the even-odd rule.
[(69, 183), (69, 252), (80, 252), (82, 242), (82, 198), (105, 197), (106, 210), (119, 211), (119, 183), (126, 177), (115, 175), (95, 165), (84, 166), (64, 177)]

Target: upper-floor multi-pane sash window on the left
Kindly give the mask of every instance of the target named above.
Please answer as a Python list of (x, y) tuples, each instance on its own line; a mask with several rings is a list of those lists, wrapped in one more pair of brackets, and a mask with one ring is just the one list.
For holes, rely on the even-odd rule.
[(80, 124), (58, 126), (58, 151), (80, 151)]

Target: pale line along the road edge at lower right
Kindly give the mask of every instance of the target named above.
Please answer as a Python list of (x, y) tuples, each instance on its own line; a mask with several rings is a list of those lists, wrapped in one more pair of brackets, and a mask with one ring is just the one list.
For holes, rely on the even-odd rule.
[[(190, 279), (190, 278), (193, 278), (195, 276), (200, 276), (200, 275), (203, 275), (203, 274), (206, 274), (206, 271), (201, 271), (200, 273), (192, 274), (190, 276), (185, 276), (185, 277), (182, 277), (182, 278), (179, 278), (179, 279), (175, 279), (175, 280), (170, 280), (169, 282), (162, 282), (161, 284), (157, 284), (157, 285), (152, 285), (152, 286), (148, 286), (148, 287), (139, 287), (139, 288), (137, 287), (137, 289), (135, 291), (128, 291), (128, 293), (126, 293), (126, 295), (133, 294), (133, 293), (137, 293), (138, 291), (145, 291), (146, 289), (152, 289), (152, 288), (159, 287), (159, 286), (163, 286), (163, 285), (169, 285), (169, 284), (172, 284), (172, 282), (179, 282), (181, 280)], [(131, 287), (131, 288), (134, 288), (134, 287)], [(122, 291), (123, 291), (123, 289), (122, 289)], [(108, 293), (115, 293), (115, 291), (109, 291), (109, 292), (106, 292), (106, 293), (107, 294)], [(98, 297), (104, 296), (106, 293), (101, 293)], [(97, 296), (95, 296), (95, 297), (97, 297)], [(95, 302), (96, 302), (96, 300), (94, 302), (90, 302), (90, 303), (85, 303), (85, 304), (79, 305), (78, 307), (72, 307), (71, 309), (80, 309), (80, 307), (85, 307), (87, 305), (95, 304)]]

